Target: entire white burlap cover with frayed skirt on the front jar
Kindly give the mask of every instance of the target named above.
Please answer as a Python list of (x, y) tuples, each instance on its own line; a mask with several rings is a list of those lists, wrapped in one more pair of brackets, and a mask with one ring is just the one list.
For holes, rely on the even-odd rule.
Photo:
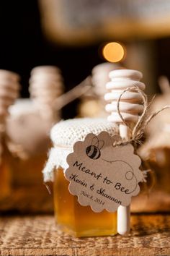
[(75, 142), (84, 140), (89, 133), (99, 135), (102, 131), (112, 136), (117, 133), (117, 126), (102, 118), (68, 119), (55, 124), (50, 132), (54, 147), (50, 149), (48, 161), (42, 171), (44, 182), (53, 182), (55, 168), (63, 168), (63, 171), (68, 168), (66, 158), (73, 151)]

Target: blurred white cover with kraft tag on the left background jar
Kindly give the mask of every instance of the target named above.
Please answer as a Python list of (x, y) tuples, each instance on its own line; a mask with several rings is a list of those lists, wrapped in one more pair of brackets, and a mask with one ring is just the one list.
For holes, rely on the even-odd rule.
[(37, 106), (30, 98), (19, 99), (9, 107), (6, 134), (10, 138), (14, 153), (19, 149), (19, 152), (27, 157), (45, 154), (50, 144), (48, 134), (51, 126), (50, 119), (42, 119)]

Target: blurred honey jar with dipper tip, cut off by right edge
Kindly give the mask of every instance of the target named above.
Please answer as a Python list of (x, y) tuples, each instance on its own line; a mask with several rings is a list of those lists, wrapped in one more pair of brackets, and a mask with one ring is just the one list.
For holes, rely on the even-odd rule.
[[(157, 95), (151, 104), (154, 113), (170, 105), (170, 86), (166, 77), (159, 81), (163, 92)], [(136, 211), (161, 212), (170, 210), (170, 109), (155, 116), (146, 127), (146, 140), (139, 148), (139, 154), (148, 167), (153, 170), (155, 184), (148, 195), (134, 197), (132, 209)]]

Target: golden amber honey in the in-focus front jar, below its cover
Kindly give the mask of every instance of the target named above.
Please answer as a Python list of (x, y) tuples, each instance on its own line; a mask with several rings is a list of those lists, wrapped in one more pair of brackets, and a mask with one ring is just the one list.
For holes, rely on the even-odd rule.
[(117, 213), (94, 213), (90, 206), (81, 206), (68, 191), (69, 182), (63, 169), (55, 171), (54, 205), (58, 227), (75, 236), (107, 236), (117, 234)]

